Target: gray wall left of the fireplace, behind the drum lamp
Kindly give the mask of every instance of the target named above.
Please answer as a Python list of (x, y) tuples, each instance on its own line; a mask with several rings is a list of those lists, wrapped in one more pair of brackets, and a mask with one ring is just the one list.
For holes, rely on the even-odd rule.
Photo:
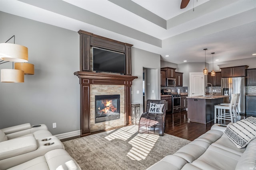
[[(25, 75), (24, 83), (0, 83), (0, 129), (31, 123), (46, 124), (53, 135), (79, 130), (79, 34), (0, 12), (0, 43), (12, 35), (28, 47), (35, 74)], [(12, 63), (0, 68), (11, 69)]]

